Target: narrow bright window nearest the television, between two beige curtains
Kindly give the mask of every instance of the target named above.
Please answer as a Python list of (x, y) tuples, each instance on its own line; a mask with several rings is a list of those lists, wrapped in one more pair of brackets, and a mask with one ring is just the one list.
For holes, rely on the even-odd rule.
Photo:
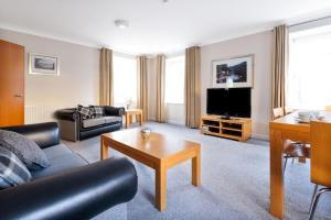
[(184, 103), (185, 57), (166, 59), (166, 103)]

